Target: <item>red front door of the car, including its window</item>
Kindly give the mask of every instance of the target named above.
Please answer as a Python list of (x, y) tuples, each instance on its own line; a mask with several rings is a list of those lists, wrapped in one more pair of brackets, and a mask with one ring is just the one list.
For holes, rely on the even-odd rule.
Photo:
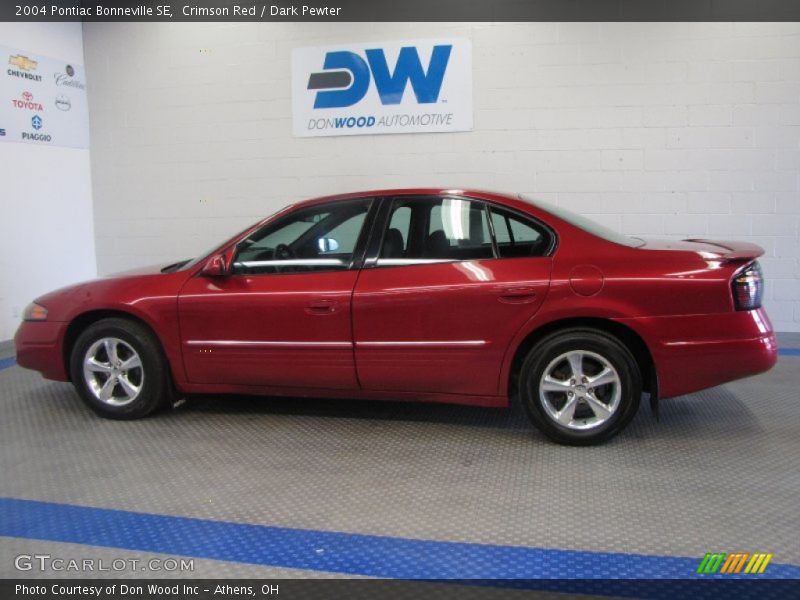
[(193, 383), (357, 389), (350, 304), (372, 198), (291, 211), (242, 240), (230, 274), (178, 308)]

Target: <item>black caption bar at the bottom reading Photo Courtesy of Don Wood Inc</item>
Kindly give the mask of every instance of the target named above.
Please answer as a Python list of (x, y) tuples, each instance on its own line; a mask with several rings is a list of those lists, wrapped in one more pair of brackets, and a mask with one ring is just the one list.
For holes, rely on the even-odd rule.
[(797, 581), (781, 579), (8, 579), (0, 581), (3, 600), (529, 600), (553, 593), (585, 598), (628, 597), (798, 598)]

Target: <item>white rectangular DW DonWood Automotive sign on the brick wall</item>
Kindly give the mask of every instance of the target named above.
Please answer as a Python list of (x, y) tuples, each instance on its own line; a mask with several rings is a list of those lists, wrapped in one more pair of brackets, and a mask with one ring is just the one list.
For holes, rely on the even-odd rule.
[(472, 129), (468, 39), (295, 48), (297, 137)]

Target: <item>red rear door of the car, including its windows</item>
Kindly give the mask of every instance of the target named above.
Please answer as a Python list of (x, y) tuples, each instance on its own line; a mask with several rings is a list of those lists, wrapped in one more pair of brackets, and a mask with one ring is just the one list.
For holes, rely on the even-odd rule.
[(362, 387), (497, 395), (508, 345), (547, 294), (553, 234), (466, 198), (386, 201), (353, 297)]

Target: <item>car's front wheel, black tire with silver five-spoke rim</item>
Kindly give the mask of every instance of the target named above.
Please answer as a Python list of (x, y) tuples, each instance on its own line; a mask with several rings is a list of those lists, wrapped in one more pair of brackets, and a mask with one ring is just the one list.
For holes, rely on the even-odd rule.
[[(107, 365), (112, 365), (109, 353), (105, 350), (107, 346), (102, 341), (106, 339), (119, 342), (111, 342), (111, 345), (119, 355), (117, 363), (122, 363), (120, 367), (125, 364), (123, 361), (133, 358), (134, 353), (138, 356), (141, 367), (131, 367), (125, 372), (106, 372)], [(85, 372), (84, 361), (90, 350), (99, 363), (98, 368), (104, 371), (89, 374)], [(87, 406), (98, 415), (109, 419), (139, 419), (173, 402), (172, 382), (161, 345), (150, 329), (133, 320), (108, 318), (89, 325), (72, 347), (70, 375), (78, 395)], [(121, 380), (122, 375), (128, 387), (116, 383)], [(109, 386), (112, 395), (104, 401), (98, 393), (106, 388), (104, 382), (114, 376), (117, 379)], [(133, 389), (138, 389), (138, 392), (131, 393), (130, 390)]]

